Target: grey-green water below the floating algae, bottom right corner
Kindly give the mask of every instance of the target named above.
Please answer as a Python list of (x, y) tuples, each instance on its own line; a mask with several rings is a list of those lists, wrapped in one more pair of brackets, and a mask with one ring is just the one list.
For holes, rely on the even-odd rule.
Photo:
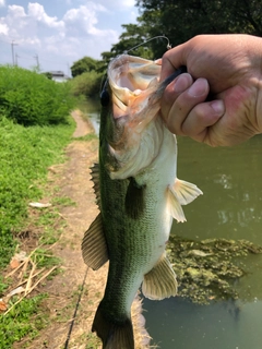
[(209, 306), (172, 298), (144, 300), (146, 326), (162, 349), (261, 349), (262, 302)]

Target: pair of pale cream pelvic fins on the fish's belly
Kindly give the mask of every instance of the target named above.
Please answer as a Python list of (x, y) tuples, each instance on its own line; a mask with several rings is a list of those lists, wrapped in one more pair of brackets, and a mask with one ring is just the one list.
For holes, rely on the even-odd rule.
[(190, 204), (203, 192), (195, 185), (179, 179), (176, 179), (174, 185), (167, 188), (167, 208), (170, 215), (177, 221), (186, 221), (181, 205)]

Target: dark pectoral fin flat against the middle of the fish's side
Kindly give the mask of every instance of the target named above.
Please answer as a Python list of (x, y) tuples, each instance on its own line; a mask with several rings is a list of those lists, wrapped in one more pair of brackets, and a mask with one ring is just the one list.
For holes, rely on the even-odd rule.
[(133, 219), (138, 219), (144, 212), (144, 191), (145, 185), (139, 185), (133, 177), (129, 178), (124, 207), (127, 215)]

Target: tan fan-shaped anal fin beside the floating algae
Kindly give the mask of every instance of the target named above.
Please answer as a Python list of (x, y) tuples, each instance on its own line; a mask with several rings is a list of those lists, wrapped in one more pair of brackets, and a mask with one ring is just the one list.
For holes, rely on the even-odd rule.
[(164, 253), (153, 269), (144, 275), (142, 292), (145, 297), (162, 300), (177, 294), (176, 274)]

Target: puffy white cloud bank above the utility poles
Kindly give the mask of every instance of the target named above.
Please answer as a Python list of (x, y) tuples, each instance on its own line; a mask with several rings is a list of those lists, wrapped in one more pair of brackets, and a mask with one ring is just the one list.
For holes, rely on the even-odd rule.
[(46, 49), (52, 51), (53, 46), (59, 50), (62, 39), (81, 45), (80, 37), (93, 39), (94, 48), (97, 37), (107, 38), (110, 41), (116, 41), (118, 38), (116, 31), (102, 31), (97, 27), (99, 11), (105, 12), (106, 9), (100, 4), (88, 2), (88, 7), (80, 5), (69, 10), (59, 21), (57, 16), (49, 16), (39, 3), (29, 2), (27, 13), (20, 5), (9, 5), (7, 16), (0, 19), (0, 33), (11, 36), (10, 39), (19, 43), (39, 45), (43, 41), (45, 46), (47, 45)]

